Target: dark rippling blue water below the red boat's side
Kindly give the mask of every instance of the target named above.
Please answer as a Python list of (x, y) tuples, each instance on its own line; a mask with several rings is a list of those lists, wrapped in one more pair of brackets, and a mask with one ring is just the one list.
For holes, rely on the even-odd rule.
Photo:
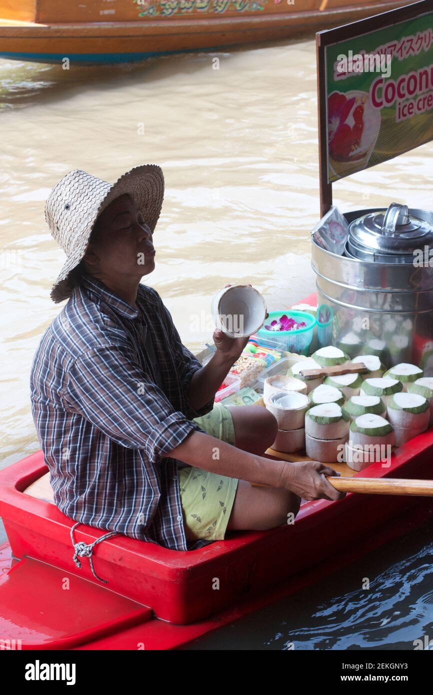
[[(433, 520), (186, 650), (433, 649)], [(370, 585), (363, 589), (366, 578)], [(428, 639), (426, 639), (428, 636)], [(415, 645), (420, 643), (415, 642)]]

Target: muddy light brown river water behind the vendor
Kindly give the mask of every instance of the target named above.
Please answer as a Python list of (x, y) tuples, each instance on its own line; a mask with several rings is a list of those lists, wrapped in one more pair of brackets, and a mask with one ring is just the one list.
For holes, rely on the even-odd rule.
[[(57, 181), (75, 168), (115, 181), (135, 165), (161, 165), (165, 202), (146, 282), (199, 352), (224, 284), (252, 283), (270, 311), (314, 291), (316, 111), (313, 38), (115, 67), (0, 60), (0, 468), (39, 448), (28, 375), (59, 311), (49, 291), (64, 254), (44, 222)], [(430, 143), (343, 179), (334, 203), (431, 208), (432, 155)]]

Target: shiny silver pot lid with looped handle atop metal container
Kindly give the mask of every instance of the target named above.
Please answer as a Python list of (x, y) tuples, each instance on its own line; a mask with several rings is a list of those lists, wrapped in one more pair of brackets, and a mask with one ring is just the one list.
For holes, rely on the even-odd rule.
[(363, 215), (349, 227), (352, 249), (367, 254), (412, 255), (429, 241), (433, 242), (432, 225), (410, 215), (407, 205), (398, 203), (391, 203), (386, 211)]

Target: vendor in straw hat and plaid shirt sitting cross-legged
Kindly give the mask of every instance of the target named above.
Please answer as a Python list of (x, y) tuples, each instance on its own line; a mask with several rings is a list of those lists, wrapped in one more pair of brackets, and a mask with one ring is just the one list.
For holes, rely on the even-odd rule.
[(290, 523), (301, 498), (343, 495), (329, 466), (263, 457), (277, 432), (269, 411), (214, 404), (247, 338), (215, 332), (202, 367), (140, 284), (155, 267), (163, 190), (161, 168), (142, 165), (114, 185), (74, 170), (51, 191), (45, 217), (67, 254), (51, 298), (68, 302), (35, 354), (31, 398), (64, 514), (188, 550)]

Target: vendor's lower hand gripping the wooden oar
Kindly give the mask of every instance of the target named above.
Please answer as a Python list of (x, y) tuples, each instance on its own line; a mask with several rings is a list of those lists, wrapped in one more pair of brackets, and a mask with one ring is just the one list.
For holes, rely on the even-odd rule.
[(346, 493), (336, 490), (325, 475), (340, 473), (320, 461), (295, 461), (284, 466), (281, 482), (303, 500), (342, 500)]

